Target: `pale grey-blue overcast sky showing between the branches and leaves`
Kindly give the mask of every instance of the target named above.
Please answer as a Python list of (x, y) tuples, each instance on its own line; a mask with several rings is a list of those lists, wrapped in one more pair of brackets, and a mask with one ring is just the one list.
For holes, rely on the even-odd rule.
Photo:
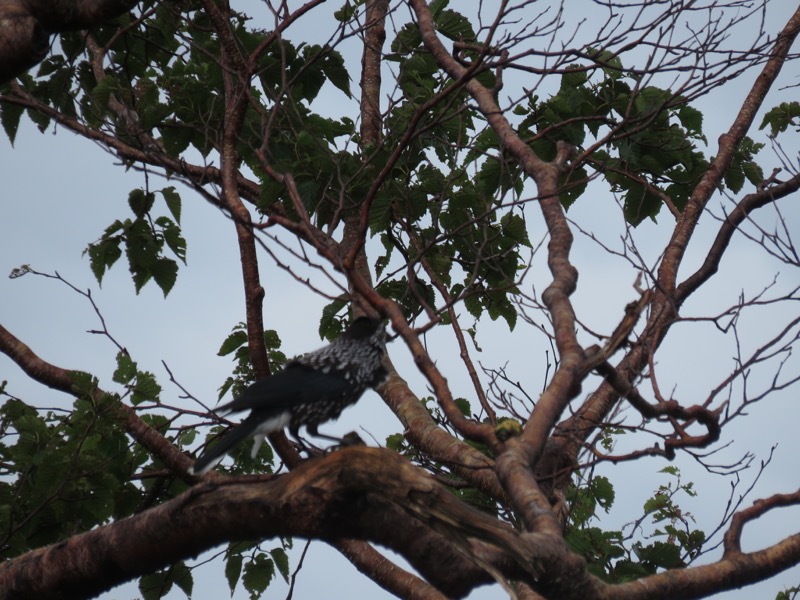
[[(771, 23), (781, 23), (793, 10), (789, 3), (780, 4), (771, 14)], [(774, 29), (774, 26), (773, 26)], [(290, 39), (291, 35), (289, 36)], [(357, 68), (358, 61), (352, 63)], [(796, 66), (789, 72), (797, 83)], [(719, 133), (729, 126), (729, 119), (743, 98), (755, 74), (732, 82), (724, 90), (717, 90), (705, 98), (699, 108), (705, 114), (704, 126), (712, 143)], [(354, 89), (357, 72), (353, 71)], [(773, 96), (768, 106), (781, 99), (793, 99), (796, 90), (784, 90)], [(341, 102), (336, 91), (325, 99)], [(757, 121), (759, 122), (759, 121)], [(797, 148), (787, 149), (797, 157)], [(713, 149), (709, 151), (713, 153)], [(89, 270), (88, 258), (82, 256), (88, 242), (97, 239), (103, 229), (114, 219), (128, 214), (127, 195), (131, 189), (144, 185), (142, 175), (125, 172), (116, 166), (116, 159), (98, 146), (79, 139), (67, 131), (53, 129), (40, 134), (23, 118), (17, 140), (12, 149), (8, 140), (0, 139), (0, 165), (3, 173), (3, 200), (0, 204), (0, 275), (7, 274), (21, 264), (30, 264), (37, 270), (58, 271), (79, 288), (92, 290), (93, 297), (102, 310), (112, 335), (120, 341), (139, 362), (142, 369), (154, 372), (164, 389), (163, 397), (177, 404), (179, 390), (171, 387), (161, 361), (165, 361), (175, 377), (195, 396), (207, 404), (216, 402), (216, 390), (230, 373), (228, 357), (217, 357), (216, 351), (232, 327), (244, 319), (242, 284), (238, 264), (235, 232), (230, 222), (200, 197), (183, 193), (184, 210), (182, 228), (188, 242), (188, 267), (182, 268), (178, 282), (167, 299), (155, 285), (147, 285), (137, 296), (125, 268), (124, 258), (107, 273), (102, 288), (97, 286)], [(769, 172), (777, 164), (769, 148), (760, 155), (760, 163)], [(169, 185), (151, 177), (150, 186), (158, 189)], [(610, 197), (584, 197), (570, 210), (569, 216), (583, 225), (591, 224), (602, 231), (603, 239), (619, 245), (623, 223), (619, 211), (609, 204)], [(781, 203), (785, 213), (800, 216), (797, 198)], [(544, 231), (534, 211), (528, 211), (531, 238), (538, 241)], [(655, 264), (658, 252), (669, 234), (670, 219), (661, 215), (661, 225), (643, 223), (635, 232), (637, 244), (649, 264)], [(687, 273), (691, 266), (702, 260), (712, 239), (716, 225), (705, 219), (689, 249)], [(537, 232), (539, 232), (537, 234)], [(609, 323), (616, 323), (625, 303), (635, 298), (632, 289), (635, 273), (623, 261), (614, 260), (598, 252), (596, 244), (577, 235), (573, 262), (580, 271), (579, 289), (574, 296), (578, 315), (587, 325), (605, 331)], [(544, 255), (537, 257), (543, 264)], [(324, 300), (313, 296), (285, 272), (275, 268), (266, 255), (261, 262), (262, 279), (266, 289), (264, 303), (265, 324), (278, 330), (284, 352), (291, 356), (314, 349), (320, 345), (317, 335), (319, 309)], [(776, 275), (778, 267), (767, 261), (763, 253), (752, 245), (740, 244), (723, 262), (713, 286), (713, 294), (699, 295), (687, 303), (684, 316), (710, 314), (709, 305), (725, 307), (733, 304), (741, 290), (752, 293), (767, 285)], [(795, 285), (797, 272), (783, 267), (780, 284)], [(549, 277), (544, 268), (535, 276), (541, 292)], [(10, 280), (0, 278), (0, 323), (28, 344), (45, 360), (65, 368), (91, 371), (106, 389), (114, 389), (111, 373), (115, 368), (116, 349), (102, 336), (91, 335), (87, 330), (99, 326), (88, 302), (56, 281), (34, 276)], [(797, 310), (794, 309), (796, 315)], [(787, 321), (787, 312), (765, 313), (743, 323), (743, 329), (757, 340), (759, 332), (771, 331), (778, 323)], [(544, 352), (547, 345), (542, 338), (534, 342), (531, 329), (518, 328), (513, 334), (506, 328), (487, 327), (481, 337), (486, 349), (479, 358), (487, 366), (502, 366), (514, 357), (530, 357), (524, 364), (509, 363), (509, 369), (534, 394), (541, 390), (544, 378)], [(684, 404), (702, 401), (708, 390), (730, 371), (731, 351), (728, 340), (720, 337), (720, 351), (711, 352), (710, 339), (716, 339), (711, 326), (683, 326), (670, 334), (660, 360), (664, 364), (662, 382), (673, 389), (675, 397)], [(582, 339), (591, 343), (589, 339)], [(750, 342), (751, 345), (755, 341)], [(713, 348), (713, 344), (711, 345)], [(453, 352), (448, 335), (429, 340), (431, 355), (448, 376), (456, 395), (472, 397), (465, 384), (463, 367)], [(495, 349), (502, 349), (495, 352)], [(393, 361), (401, 375), (409, 378), (414, 390), (425, 395), (425, 386), (413, 375), (412, 361), (400, 343), (390, 348)], [(797, 370), (797, 363), (790, 363)], [(37, 405), (64, 406), (63, 395), (32, 383), (5, 356), (0, 356), (0, 380), (9, 380), (8, 392)], [(588, 390), (589, 386), (584, 386)], [(752, 418), (739, 420), (723, 433), (721, 443), (737, 442), (735, 448), (724, 451), (725, 459), (735, 459), (744, 450), (753, 452), (757, 460), (765, 459), (776, 442), (779, 446), (772, 465), (761, 478), (747, 504), (755, 498), (775, 492), (791, 492), (798, 487), (797, 456), (800, 441), (796, 435), (798, 416), (796, 390), (776, 394), (762, 406), (755, 406)], [(193, 407), (196, 408), (196, 407)], [(356, 426), (363, 427), (362, 437), (373, 435), (383, 443), (387, 434), (398, 431), (400, 424), (374, 393), (369, 393), (354, 408), (349, 409), (336, 426), (326, 431), (346, 432)], [(637, 438), (641, 442), (641, 438)], [(371, 442), (376, 443), (376, 442)], [(623, 442), (624, 444), (624, 442)], [(611, 477), (617, 491), (617, 505), (604, 528), (620, 527), (632, 514), (641, 511), (644, 500), (655, 488), (668, 482), (657, 471), (667, 463), (652, 459), (637, 464), (605, 466), (602, 472)], [(676, 464), (699, 491), (695, 499), (681, 498), (681, 506), (697, 517), (698, 526), (707, 531), (719, 519), (729, 491), (729, 480), (708, 477), (697, 465), (685, 457)], [(742, 477), (749, 482), (754, 469)], [(630, 482), (630, 484), (628, 483)], [(759, 521), (747, 529), (745, 541), (754, 549), (774, 542), (786, 534), (787, 523), (793, 531), (800, 524), (800, 510), (783, 510)], [(297, 548), (303, 542), (296, 540)], [(270, 548), (270, 543), (265, 544)], [(296, 557), (291, 568), (296, 567)], [(713, 558), (713, 557), (712, 557)], [(335, 587), (331, 585), (335, 582)], [(800, 583), (800, 569), (794, 568), (782, 576), (757, 588), (741, 592), (728, 592), (723, 598), (772, 598), (783, 585)], [(354, 587), (358, 586), (358, 587)], [(195, 598), (226, 597), (227, 584), (222, 567), (197, 570), (195, 573)], [(360, 591), (359, 591), (360, 590)], [(286, 586), (274, 584), (267, 591), (268, 598), (285, 597)], [(486, 588), (474, 598), (496, 598), (501, 593)], [(104, 598), (127, 600), (137, 596), (135, 586), (119, 588)], [(173, 592), (171, 598), (180, 598)], [(246, 598), (241, 585), (236, 598)], [(298, 578), (295, 598), (383, 598), (389, 597), (373, 583), (358, 575), (353, 567), (335, 551), (321, 543), (312, 544), (304, 570)]]

